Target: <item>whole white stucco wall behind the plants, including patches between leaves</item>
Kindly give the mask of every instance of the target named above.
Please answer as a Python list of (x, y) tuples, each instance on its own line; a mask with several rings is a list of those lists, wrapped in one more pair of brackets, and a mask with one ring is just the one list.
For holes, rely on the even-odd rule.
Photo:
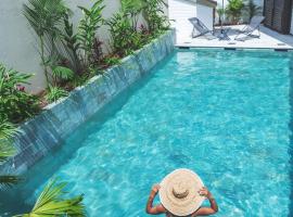
[[(0, 62), (16, 71), (35, 74), (28, 90), (38, 92), (44, 87), (44, 76), (40, 66), (37, 36), (22, 13), (25, 2), (27, 0), (0, 0)], [(104, 2), (106, 7), (103, 16), (109, 18), (119, 9), (120, 1), (104, 0)], [(66, 3), (73, 10), (75, 14), (73, 21), (77, 24), (82, 15), (77, 5), (89, 8), (93, 1), (71, 0)], [(100, 39), (105, 42), (109, 41), (106, 29), (104, 26), (99, 31)]]

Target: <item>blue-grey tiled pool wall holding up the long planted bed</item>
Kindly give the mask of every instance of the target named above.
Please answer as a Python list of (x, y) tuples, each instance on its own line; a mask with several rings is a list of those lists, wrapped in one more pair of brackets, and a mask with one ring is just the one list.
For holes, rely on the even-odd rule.
[(0, 173), (25, 173), (116, 94), (148, 74), (174, 48), (173, 29), (76, 88), (67, 98), (48, 105), (40, 115), (20, 126), (22, 132), (14, 139), (17, 154), (1, 165)]

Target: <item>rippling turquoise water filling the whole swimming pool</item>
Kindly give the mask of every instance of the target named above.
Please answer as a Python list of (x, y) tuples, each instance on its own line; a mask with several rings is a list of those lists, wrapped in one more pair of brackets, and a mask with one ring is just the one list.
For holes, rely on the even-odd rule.
[(2, 209), (27, 210), (60, 177), (85, 194), (88, 216), (146, 216), (151, 186), (187, 167), (214, 193), (217, 216), (293, 215), (291, 60), (269, 51), (174, 52), (3, 194)]

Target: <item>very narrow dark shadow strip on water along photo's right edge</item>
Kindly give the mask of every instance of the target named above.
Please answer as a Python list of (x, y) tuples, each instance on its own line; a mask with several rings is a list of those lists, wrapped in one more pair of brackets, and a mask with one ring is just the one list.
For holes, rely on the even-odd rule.
[(290, 204), (289, 204), (289, 216), (293, 216), (293, 56), (291, 56), (290, 60), (290, 74), (289, 74), (289, 78), (290, 78), (290, 88), (289, 88), (289, 101), (290, 101), (290, 122), (289, 122), (289, 129), (291, 131), (290, 136), (289, 136), (289, 156), (290, 156), (290, 161), (289, 161), (289, 176), (290, 176)]

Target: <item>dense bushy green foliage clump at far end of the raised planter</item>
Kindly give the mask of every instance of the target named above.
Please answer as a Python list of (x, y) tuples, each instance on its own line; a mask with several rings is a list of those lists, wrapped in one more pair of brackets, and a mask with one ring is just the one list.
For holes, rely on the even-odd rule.
[[(123, 58), (140, 49), (162, 31), (168, 29), (168, 18), (164, 15), (164, 0), (122, 0), (122, 10), (106, 24), (112, 36), (114, 55)], [(142, 14), (146, 26), (138, 28), (138, 17)]]

